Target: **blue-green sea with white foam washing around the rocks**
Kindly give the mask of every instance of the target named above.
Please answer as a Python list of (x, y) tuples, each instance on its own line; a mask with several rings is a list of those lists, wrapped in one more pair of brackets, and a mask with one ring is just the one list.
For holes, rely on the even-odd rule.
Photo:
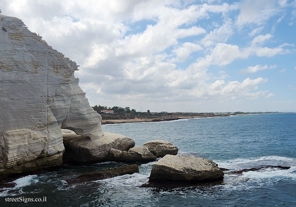
[[(0, 189), (0, 206), (296, 206), (296, 114), (190, 118), (151, 123), (103, 125), (105, 132), (133, 138), (136, 146), (167, 140), (179, 155), (212, 159), (228, 171), (260, 166), (242, 174), (225, 174), (223, 183), (182, 188), (140, 188), (155, 162), (137, 163), (139, 173), (84, 184), (65, 180), (85, 172), (127, 165), (104, 162), (16, 179)], [(5, 198), (43, 198), (46, 202), (5, 202)]]

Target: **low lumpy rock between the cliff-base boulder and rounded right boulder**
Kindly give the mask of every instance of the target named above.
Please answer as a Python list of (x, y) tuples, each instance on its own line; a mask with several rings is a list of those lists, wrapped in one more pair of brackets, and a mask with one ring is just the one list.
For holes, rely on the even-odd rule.
[(147, 162), (154, 161), (156, 157), (146, 147), (133, 147), (128, 151), (110, 149), (109, 160)]

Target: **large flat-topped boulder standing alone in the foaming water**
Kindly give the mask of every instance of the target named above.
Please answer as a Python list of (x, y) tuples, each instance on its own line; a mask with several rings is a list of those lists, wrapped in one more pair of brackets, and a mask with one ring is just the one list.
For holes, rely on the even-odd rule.
[(210, 159), (201, 157), (165, 155), (152, 167), (149, 181), (208, 181), (222, 180), (223, 171)]

